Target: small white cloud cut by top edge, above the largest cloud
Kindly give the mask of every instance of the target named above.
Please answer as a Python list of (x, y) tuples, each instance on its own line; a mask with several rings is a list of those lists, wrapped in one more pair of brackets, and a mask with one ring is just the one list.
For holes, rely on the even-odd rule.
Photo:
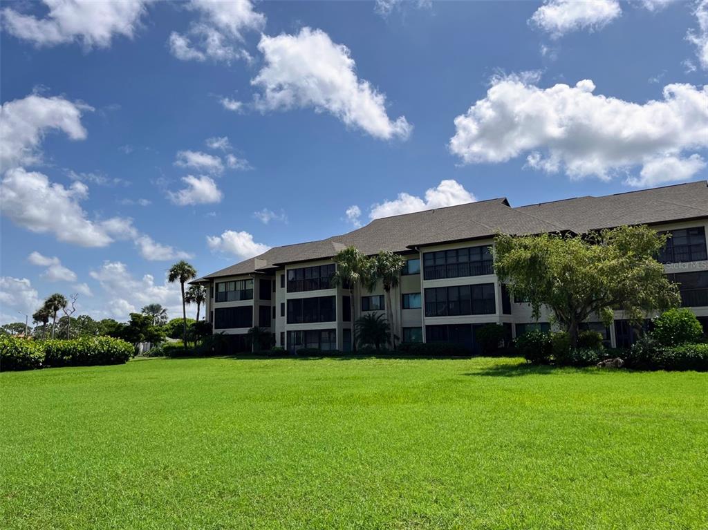
[(533, 13), (530, 23), (559, 38), (576, 30), (597, 30), (622, 15), (617, 0), (549, 0)]

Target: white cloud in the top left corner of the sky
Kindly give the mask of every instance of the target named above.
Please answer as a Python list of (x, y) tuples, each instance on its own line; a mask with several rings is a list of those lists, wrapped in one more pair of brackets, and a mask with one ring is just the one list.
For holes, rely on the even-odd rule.
[(145, 0), (42, 0), (44, 18), (2, 11), (5, 30), (37, 46), (80, 41), (86, 49), (108, 47), (115, 35), (132, 38), (146, 13)]

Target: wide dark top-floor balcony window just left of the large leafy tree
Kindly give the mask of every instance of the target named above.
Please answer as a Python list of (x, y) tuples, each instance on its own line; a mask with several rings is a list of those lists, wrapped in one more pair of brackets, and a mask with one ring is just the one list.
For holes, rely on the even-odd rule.
[(479, 276), (492, 273), (492, 256), (489, 246), (473, 246), (438, 250), (423, 254), (425, 280)]

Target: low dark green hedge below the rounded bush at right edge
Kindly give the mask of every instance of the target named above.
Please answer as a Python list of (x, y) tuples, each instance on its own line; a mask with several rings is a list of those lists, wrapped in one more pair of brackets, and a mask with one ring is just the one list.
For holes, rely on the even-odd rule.
[(651, 337), (641, 338), (629, 350), (625, 366), (639, 370), (708, 371), (708, 344), (664, 346)]

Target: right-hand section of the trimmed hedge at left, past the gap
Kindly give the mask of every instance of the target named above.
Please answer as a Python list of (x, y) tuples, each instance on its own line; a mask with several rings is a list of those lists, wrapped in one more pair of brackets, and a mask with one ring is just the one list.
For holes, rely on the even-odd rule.
[(130, 342), (113, 337), (47, 340), (44, 350), (47, 367), (124, 364), (135, 353)]

